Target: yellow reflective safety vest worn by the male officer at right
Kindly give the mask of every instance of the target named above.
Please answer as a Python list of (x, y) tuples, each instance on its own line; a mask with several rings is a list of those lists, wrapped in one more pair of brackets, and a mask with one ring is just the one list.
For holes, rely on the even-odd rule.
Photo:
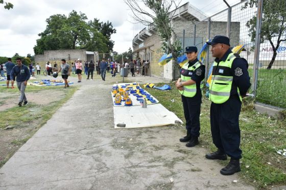
[[(219, 64), (214, 61), (209, 85), (209, 100), (213, 103), (224, 103), (229, 99), (233, 81), (231, 66), (237, 57), (239, 56), (229, 53), (226, 61), (221, 61)], [(239, 88), (237, 88), (237, 94), (242, 101)]]

